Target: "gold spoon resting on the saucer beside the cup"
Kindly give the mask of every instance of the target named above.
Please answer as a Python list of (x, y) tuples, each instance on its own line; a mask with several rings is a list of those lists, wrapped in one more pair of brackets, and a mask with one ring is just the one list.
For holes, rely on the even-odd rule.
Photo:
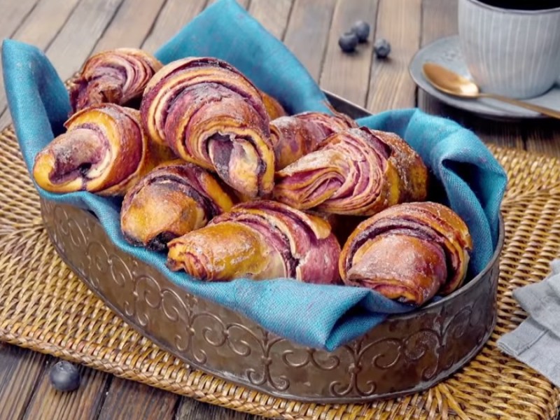
[(538, 106), (529, 104), (528, 102), (518, 101), (517, 99), (512, 99), (504, 97), (500, 94), (493, 93), (483, 93), (480, 92), (478, 86), (465, 78), (463, 76), (454, 73), (453, 71), (440, 66), (439, 64), (426, 63), (422, 66), (424, 77), (430, 82), (434, 87), (445, 92), (447, 94), (452, 94), (457, 97), (463, 98), (491, 98), (497, 99), (501, 102), (507, 102), (507, 104), (512, 104), (515, 106), (520, 106), (521, 108), (530, 109), (531, 111), (536, 111), (542, 113), (545, 116), (559, 118), (560, 111), (554, 111), (554, 109), (545, 108), (544, 106)]

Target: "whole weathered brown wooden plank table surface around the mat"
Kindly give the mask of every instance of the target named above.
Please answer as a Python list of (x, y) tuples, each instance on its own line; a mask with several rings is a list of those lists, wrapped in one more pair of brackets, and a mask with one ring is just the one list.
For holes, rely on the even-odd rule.
[[(42, 48), (65, 79), (92, 52), (122, 46), (153, 52), (211, 1), (0, 0), (0, 36)], [(421, 46), (456, 34), (456, 0), (241, 3), (286, 43), (326, 90), (374, 112), (419, 106), (457, 120), (486, 142), (560, 156), (560, 124), (556, 121), (484, 120), (444, 106), (416, 88), (408, 74), (409, 61)], [(372, 43), (361, 45), (358, 54), (342, 54), (338, 36), (358, 19), (371, 22), (375, 37), (391, 42), (390, 59), (375, 59)], [(0, 123), (3, 127), (9, 122), (2, 86)], [(57, 393), (48, 381), (48, 368), (56, 361), (0, 344), (1, 420), (258, 418), (85, 368), (81, 369), (82, 386), (78, 391)]]

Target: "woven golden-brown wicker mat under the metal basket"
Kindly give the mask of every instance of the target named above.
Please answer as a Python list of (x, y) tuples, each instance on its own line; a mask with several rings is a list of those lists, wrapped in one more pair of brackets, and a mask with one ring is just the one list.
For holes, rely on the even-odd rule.
[(511, 291), (560, 255), (560, 162), (492, 148), (510, 175), (498, 324), (479, 355), (429, 391), (369, 405), (272, 398), (190, 369), (117, 318), (58, 258), (15, 135), (1, 134), (0, 340), (242, 412), (282, 419), (554, 419), (560, 391), (496, 349), (524, 312)]

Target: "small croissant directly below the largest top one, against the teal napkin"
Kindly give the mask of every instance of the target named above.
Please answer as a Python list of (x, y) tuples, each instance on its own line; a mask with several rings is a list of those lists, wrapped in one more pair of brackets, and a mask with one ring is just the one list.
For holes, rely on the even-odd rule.
[(232, 195), (212, 174), (176, 160), (160, 165), (129, 190), (120, 225), (131, 244), (160, 251), (232, 206)]

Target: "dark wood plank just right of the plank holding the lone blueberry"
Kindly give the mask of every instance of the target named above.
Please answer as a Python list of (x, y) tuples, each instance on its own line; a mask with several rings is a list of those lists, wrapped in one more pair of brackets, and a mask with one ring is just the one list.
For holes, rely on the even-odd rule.
[(115, 378), (107, 392), (99, 420), (172, 420), (178, 401), (179, 395)]

